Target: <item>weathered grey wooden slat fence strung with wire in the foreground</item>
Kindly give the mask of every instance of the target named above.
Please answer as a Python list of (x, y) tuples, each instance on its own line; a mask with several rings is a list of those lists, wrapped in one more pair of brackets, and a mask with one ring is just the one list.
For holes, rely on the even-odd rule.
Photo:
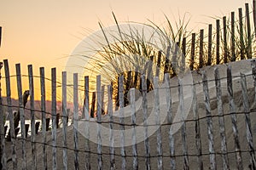
[[(79, 131), (78, 131), (78, 122), (79, 122), (79, 101), (78, 101), (78, 96), (79, 96), (79, 80), (78, 80), (78, 74), (73, 74), (73, 147), (71, 147), (68, 143), (68, 132), (67, 132), (67, 73), (62, 72), (62, 114), (61, 114), (61, 122), (62, 122), (62, 143), (57, 144), (57, 134), (59, 132), (57, 131), (57, 123), (56, 123), (56, 70), (53, 68), (51, 70), (51, 103), (52, 103), (52, 111), (50, 113), (45, 112), (45, 86), (44, 86), (44, 68), (40, 68), (40, 80), (41, 80), (41, 115), (42, 115), (42, 132), (37, 135), (36, 130), (35, 130), (35, 111), (34, 111), (34, 83), (33, 83), (33, 74), (32, 74), (32, 65), (28, 65), (28, 71), (29, 71), (29, 91), (30, 91), (30, 111), (31, 111), (31, 127), (32, 127), (32, 132), (31, 136), (29, 138), (26, 138), (26, 127), (25, 127), (25, 120), (24, 120), (24, 108), (23, 105), (23, 100), (22, 100), (22, 84), (21, 84), (21, 75), (20, 75), (20, 64), (16, 65), (16, 79), (17, 79), (17, 90), (19, 94), (19, 113), (20, 113), (20, 129), (21, 129), (21, 137), (15, 137), (15, 122), (14, 122), (14, 115), (13, 115), (13, 105), (11, 103), (11, 91), (10, 91), (10, 75), (9, 75), (9, 63), (8, 60), (5, 59), (3, 60), (4, 63), (4, 72), (5, 72), (5, 82), (6, 82), (6, 94), (7, 94), (7, 106), (8, 106), (8, 112), (9, 112), (9, 125), (10, 125), (10, 136), (11, 136), (11, 141), (8, 142), (5, 139), (5, 136), (3, 135), (3, 105), (1, 105), (1, 114), (0, 114), (0, 125), (1, 125), (1, 162), (2, 162), (2, 168), (7, 169), (7, 167), (11, 166), (9, 164), (9, 159), (8, 156), (11, 156), (10, 161), (13, 162), (13, 168), (14, 169), (27, 169), (27, 168), (32, 168), (35, 169), (37, 167), (42, 167), (43, 169), (46, 169), (47, 167), (49, 168), (49, 164), (53, 169), (59, 168), (64, 168), (64, 169), (79, 169), (79, 167), (85, 168), (85, 169), (94, 169), (94, 167), (97, 167), (98, 169), (103, 169), (104, 168), (121, 168), (121, 169), (139, 169), (141, 167), (146, 167), (147, 169), (151, 168), (158, 168), (158, 169), (163, 169), (164, 167), (171, 167), (172, 169), (179, 169), (179, 168), (184, 168), (184, 169), (189, 169), (189, 168), (195, 168), (198, 167), (199, 169), (207, 168), (210, 167), (211, 169), (217, 169), (219, 167), (222, 167), (224, 169), (232, 169), (234, 167), (237, 167), (237, 169), (243, 169), (244, 167), (250, 166), (253, 169), (256, 167), (256, 161), (255, 161), (255, 154), (254, 154), (254, 147), (253, 147), (253, 130), (252, 130), (252, 122), (250, 120), (250, 115), (254, 114), (254, 110), (252, 111), (251, 105), (249, 103), (252, 103), (249, 101), (249, 96), (247, 90), (252, 91), (252, 88), (247, 88), (247, 81), (248, 78), (252, 78), (253, 80), (253, 95), (254, 99), (256, 98), (256, 62), (255, 60), (252, 60), (252, 73), (251, 75), (244, 75), (241, 73), (240, 76), (240, 81), (241, 81), (241, 91), (239, 92), (242, 94), (242, 108), (243, 111), (239, 112), (236, 111), (236, 95), (235, 92), (233, 93), (233, 87), (232, 87), (232, 73), (231, 73), (231, 67), (227, 67), (227, 77), (226, 77), (226, 82), (227, 82), (227, 96), (229, 100), (229, 105), (230, 105), (230, 110), (228, 113), (224, 113), (224, 102), (222, 101), (223, 99), (223, 94), (221, 88), (221, 78), (219, 77), (218, 73), (218, 68), (214, 70), (214, 75), (215, 75), (215, 80), (212, 80), (216, 84), (216, 98), (217, 98), (217, 104), (218, 104), (218, 115), (214, 116), (211, 111), (211, 100), (209, 97), (209, 89), (208, 89), (208, 79), (207, 79), (207, 74), (205, 71), (202, 71), (201, 74), (201, 82), (203, 84), (203, 95), (204, 95), (204, 110), (206, 115), (201, 117), (200, 111), (199, 110), (199, 105), (197, 104), (200, 100), (196, 99), (198, 95), (196, 94), (196, 89), (195, 89), (195, 84), (190, 84), (192, 87), (192, 99), (193, 99), (193, 104), (191, 106), (191, 111), (193, 112), (194, 116), (192, 119), (185, 120), (183, 119), (182, 122), (182, 127), (177, 133), (181, 133), (182, 138), (181, 138), (181, 146), (177, 146), (178, 144), (175, 142), (175, 139), (179, 139), (177, 137), (177, 134), (172, 133), (172, 124), (177, 123), (173, 122), (173, 115), (172, 115), (172, 95), (171, 95), (171, 87), (170, 85), (170, 79), (169, 75), (165, 75), (165, 81), (167, 82), (168, 86), (165, 89), (166, 90), (166, 104), (167, 104), (167, 113), (168, 113), (168, 120), (166, 124), (160, 125), (160, 96), (159, 96), (159, 80), (158, 77), (154, 77), (154, 114), (155, 114), (155, 125), (154, 126), (159, 126), (160, 127), (157, 129), (155, 132), (155, 135), (153, 136), (148, 136), (148, 122), (145, 121), (148, 118), (148, 113), (149, 113), (149, 105), (148, 105), (148, 100), (147, 100), (147, 84), (146, 84), (146, 77), (143, 75), (142, 76), (142, 83), (143, 83), (143, 128), (144, 128), (144, 137), (145, 140), (143, 144), (137, 144), (136, 139), (137, 139), (137, 133), (136, 133), (136, 127), (139, 126), (137, 123), (137, 116), (136, 110), (135, 110), (135, 89), (131, 90), (131, 122), (127, 124), (125, 122), (125, 118), (122, 116), (124, 112), (122, 109), (124, 109), (124, 91), (123, 91), (123, 84), (122, 82), (123, 77), (119, 78), (119, 109), (120, 109), (120, 118), (119, 122), (114, 122), (113, 121), (113, 99), (112, 99), (112, 89), (111, 86), (108, 86), (108, 116), (109, 116), (109, 122), (105, 122), (108, 124), (110, 127), (110, 136), (112, 138), (109, 139), (109, 147), (108, 151), (104, 151), (104, 147), (102, 145), (102, 133), (101, 133), (101, 126), (98, 126), (96, 129), (97, 132), (97, 144), (93, 144), (90, 142), (90, 139), (82, 139), (85, 145), (84, 148), (82, 149), (81, 146), (79, 145)], [(247, 79), (246, 79), (247, 77)], [(84, 92), (85, 92), (85, 102), (84, 102), (84, 111), (82, 118), (84, 118), (86, 121), (90, 122), (90, 108), (89, 108), (89, 79), (85, 78), (85, 86), (84, 86)], [(178, 91), (178, 106), (181, 110), (181, 113), (183, 114), (184, 112), (184, 95), (183, 95), (183, 82), (179, 81), (177, 91)], [(237, 93), (236, 93), (237, 94)], [(251, 93), (252, 94), (252, 93)], [(240, 97), (240, 96), (239, 96)], [(255, 102), (256, 100), (254, 100)], [(2, 99), (1, 99), (2, 102)], [(102, 122), (102, 84), (101, 84), (101, 76), (98, 76), (96, 78), (96, 122), (97, 124), (101, 125)], [(86, 114), (87, 113), (87, 114)], [(45, 115), (50, 114), (51, 116), (51, 121), (52, 121), (52, 129), (51, 129), (51, 142), (47, 141), (47, 132), (46, 132), (46, 118)], [(239, 131), (239, 124), (241, 122), (238, 122), (237, 116), (243, 116), (245, 119), (246, 123), (246, 129), (240, 129), (242, 131)], [(225, 121), (227, 121), (227, 116), (230, 116), (231, 118), (231, 126), (227, 127), (227, 125), (224, 124), (224, 118)], [(221, 140), (221, 149), (219, 150), (220, 152), (215, 150), (216, 144), (214, 143), (214, 139), (216, 139), (217, 134), (215, 132), (212, 125), (214, 124), (214, 127), (216, 126), (216, 118), (218, 117), (218, 126), (219, 126), (219, 134), (220, 134), (220, 140)], [(106, 117), (105, 117), (106, 118)], [(127, 120), (126, 120), (127, 121)], [(202, 122), (201, 121), (206, 121), (207, 123), (207, 138), (204, 136), (203, 133), (201, 133), (202, 129)], [(241, 120), (240, 120), (241, 121)], [(193, 125), (194, 127), (194, 138), (193, 141), (191, 141), (191, 137), (189, 137), (189, 129), (186, 128), (189, 123), (195, 123)], [(113, 141), (113, 125), (118, 125), (119, 126), (119, 138), (120, 138), (120, 147), (117, 149), (114, 147), (114, 141)], [(133, 134), (132, 134), (132, 146), (131, 146), (131, 155), (127, 154), (129, 150), (127, 150), (127, 147), (125, 146), (125, 127), (130, 126), (133, 129)], [(163, 133), (163, 130), (166, 127), (169, 129), (167, 132), (168, 133)], [(89, 131), (88, 127), (88, 131)], [(225, 132), (229, 129), (232, 129), (233, 133), (233, 141), (234, 143), (234, 148), (233, 150), (228, 150), (228, 145), (230, 144), (230, 141), (228, 140), (228, 137), (225, 135)], [(239, 133), (238, 133), (239, 132)], [(89, 133), (89, 132), (87, 132)], [(243, 133), (246, 134), (247, 137), (247, 144), (241, 143), (239, 135), (242, 135)], [(48, 133), (49, 135), (49, 133)], [(37, 140), (38, 136), (40, 136), (40, 139), (42, 141)], [(59, 136), (59, 135), (58, 135)], [(80, 137), (81, 138), (81, 137)], [(156, 139), (156, 146), (152, 142), (150, 142), (150, 139), (155, 138)], [(29, 140), (30, 139), (30, 140)], [(203, 143), (208, 140), (208, 148), (203, 149)], [(21, 144), (20, 144), (21, 142)], [(155, 141), (154, 141), (155, 142)], [(26, 144), (29, 143), (31, 144), (30, 150), (26, 147)], [(189, 145), (190, 143), (194, 143), (195, 148), (190, 148)], [(149, 146), (149, 144), (151, 144)], [(177, 145), (176, 145), (177, 144)], [(10, 149), (7, 147), (10, 146)], [(163, 150), (163, 145), (168, 145), (170, 148), (168, 149), (170, 152), (166, 154), (166, 148)], [(247, 150), (242, 150), (241, 148), (244, 148), (243, 146), (246, 145)], [(96, 147), (95, 147), (96, 146)], [(248, 147), (247, 147), (248, 146)], [(18, 148), (19, 147), (19, 148)], [(139, 151), (138, 148), (143, 147), (144, 153), (141, 153), (141, 150)], [(153, 148), (156, 147), (156, 152), (152, 151)], [(47, 149), (48, 148), (48, 149)], [(49, 153), (49, 148), (52, 149), (52, 152)], [(93, 151), (96, 148), (96, 151)], [(182, 149), (182, 153), (180, 155), (177, 155), (177, 148)], [(6, 150), (11, 150), (11, 152), (6, 152)], [(22, 152), (20, 152), (22, 150)], [(39, 153), (38, 150), (41, 150), (41, 154), (38, 155)], [(62, 154), (62, 165), (60, 165), (60, 157), (57, 156), (57, 153), (60, 152)], [(73, 151), (73, 158), (70, 158), (68, 154), (68, 150)], [(120, 154), (117, 154), (119, 150)], [(190, 150), (194, 150), (195, 153), (191, 153)], [(207, 152), (205, 150), (208, 150)], [(82, 152), (82, 153), (81, 153)], [(152, 152), (154, 155), (152, 155)], [(20, 155), (21, 153), (21, 155)], [(165, 153), (165, 154), (164, 154)], [(84, 156), (84, 155), (85, 156)], [(248, 156), (245, 156), (247, 154)], [(32, 157), (28, 157), (32, 156)], [(51, 156), (49, 156), (51, 155)], [(95, 157), (96, 156), (96, 157)], [(206, 159), (206, 156), (209, 157), (208, 160)], [(218, 157), (220, 156), (221, 159)], [(93, 157), (93, 159), (92, 159)], [(182, 157), (182, 159), (180, 159)], [(196, 165), (191, 165), (191, 159), (196, 159)], [(31, 161), (28, 163), (28, 159), (31, 158)], [(218, 159), (217, 159), (218, 158)], [(73, 165), (70, 165), (68, 160), (72, 159)], [(39, 161), (40, 160), (40, 161)], [(81, 161), (83, 160), (83, 161)], [(94, 160), (94, 161), (92, 161)], [(118, 161), (119, 160), (119, 161)], [(156, 164), (152, 163), (156, 161)], [(235, 160), (235, 165), (230, 163), (234, 163)], [(43, 162), (41, 162), (43, 161)], [(49, 163), (50, 161), (50, 163)], [(144, 165), (142, 165), (140, 162), (144, 161)], [(195, 160), (194, 160), (195, 161)], [(20, 164), (20, 163), (21, 164)], [(58, 163), (59, 162), (59, 163)], [(182, 163), (181, 163), (182, 162)], [(250, 164), (247, 164), (247, 163)], [(193, 161), (192, 161), (193, 163)], [(96, 164), (96, 165), (95, 165)], [(106, 166), (106, 164), (108, 166)], [(247, 164), (247, 165), (245, 165)], [(19, 165), (19, 167), (18, 167)], [(40, 166), (39, 166), (40, 165)], [(43, 166), (41, 166), (43, 165)], [(183, 167), (178, 167), (180, 165), (183, 165)]]

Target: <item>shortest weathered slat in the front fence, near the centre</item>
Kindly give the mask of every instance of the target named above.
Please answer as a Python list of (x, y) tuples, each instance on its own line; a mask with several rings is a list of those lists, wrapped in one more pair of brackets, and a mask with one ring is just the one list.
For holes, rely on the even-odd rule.
[(133, 169), (138, 169), (138, 159), (137, 159), (137, 140), (136, 140), (136, 108), (135, 108), (135, 88), (131, 88), (131, 124), (132, 124), (132, 167)]

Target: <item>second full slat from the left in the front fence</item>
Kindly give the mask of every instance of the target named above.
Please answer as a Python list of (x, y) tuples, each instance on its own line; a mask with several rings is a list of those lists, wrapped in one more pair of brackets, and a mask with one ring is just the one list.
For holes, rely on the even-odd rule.
[(20, 112), (20, 127), (21, 127), (21, 142), (22, 142), (22, 169), (26, 169), (26, 129), (25, 129), (25, 117), (24, 117), (24, 105), (22, 98), (22, 83), (21, 83), (21, 71), (20, 64), (16, 64), (17, 75), (17, 91), (19, 96), (19, 112)]

